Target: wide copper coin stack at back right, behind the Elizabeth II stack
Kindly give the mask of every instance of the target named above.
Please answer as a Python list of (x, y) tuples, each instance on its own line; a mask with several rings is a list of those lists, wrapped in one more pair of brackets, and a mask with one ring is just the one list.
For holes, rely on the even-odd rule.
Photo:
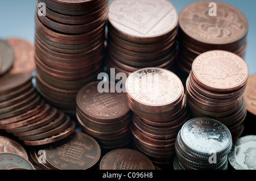
[(245, 57), (248, 23), (242, 12), (224, 2), (198, 1), (179, 15), (179, 68), (185, 78), (193, 61), (209, 50)]

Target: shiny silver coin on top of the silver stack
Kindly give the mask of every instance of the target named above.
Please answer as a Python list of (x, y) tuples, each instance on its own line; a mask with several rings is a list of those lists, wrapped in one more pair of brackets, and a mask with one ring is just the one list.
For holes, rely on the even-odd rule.
[(197, 117), (187, 121), (180, 131), (183, 144), (194, 153), (221, 157), (228, 154), (232, 147), (229, 129), (217, 120)]

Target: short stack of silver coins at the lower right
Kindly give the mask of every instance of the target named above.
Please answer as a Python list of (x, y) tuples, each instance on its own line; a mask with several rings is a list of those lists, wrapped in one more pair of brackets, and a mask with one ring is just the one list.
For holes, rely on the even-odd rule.
[(232, 148), (229, 129), (217, 120), (197, 117), (180, 129), (176, 142), (175, 170), (227, 170)]

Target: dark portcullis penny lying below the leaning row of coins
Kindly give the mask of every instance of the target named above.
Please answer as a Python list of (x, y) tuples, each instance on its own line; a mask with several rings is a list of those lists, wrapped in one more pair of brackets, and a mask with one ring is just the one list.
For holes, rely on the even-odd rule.
[(88, 134), (75, 132), (69, 137), (46, 146), (47, 162), (59, 170), (86, 170), (100, 159), (98, 142)]

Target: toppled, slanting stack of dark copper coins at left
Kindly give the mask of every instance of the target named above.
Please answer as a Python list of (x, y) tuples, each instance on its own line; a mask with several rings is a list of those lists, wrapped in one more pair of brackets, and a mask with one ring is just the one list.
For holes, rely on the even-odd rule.
[(0, 129), (26, 145), (44, 145), (67, 137), (75, 131), (75, 122), (46, 104), (31, 79), (31, 72), (0, 79)]

